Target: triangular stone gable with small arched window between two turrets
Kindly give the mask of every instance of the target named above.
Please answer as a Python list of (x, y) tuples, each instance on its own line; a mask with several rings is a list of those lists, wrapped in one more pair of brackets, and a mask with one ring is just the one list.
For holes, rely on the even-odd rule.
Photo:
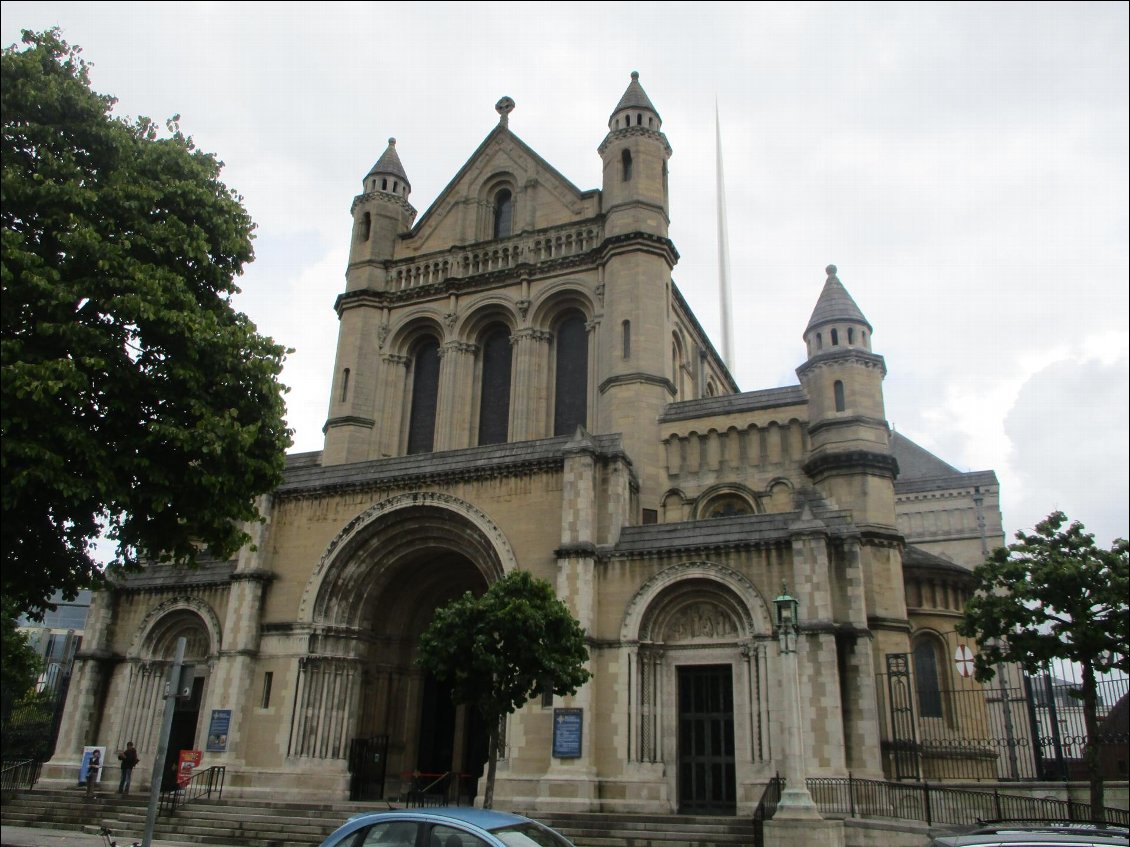
[[(536, 183), (538, 229), (592, 217), (598, 211), (599, 192), (581, 191), (508, 128), (498, 124), (405, 236), (411, 242), (405, 246), (424, 253), (478, 241), (464, 217), (477, 213), (476, 206), (463, 201), (485, 200), (485, 186), (501, 174), (510, 174), (520, 190)], [(520, 209), (514, 232), (525, 227), (527, 218)]]

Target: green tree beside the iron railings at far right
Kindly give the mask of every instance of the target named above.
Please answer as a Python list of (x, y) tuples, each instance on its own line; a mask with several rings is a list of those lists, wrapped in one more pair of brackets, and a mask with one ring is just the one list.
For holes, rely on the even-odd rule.
[(1032, 534), (998, 548), (973, 571), (974, 595), (957, 631), (976, 639), (976, 678), (988, 681), (1001, 662), (1036, 672), (1052, 661), (1083, 671), (1078, 697), (1087, 730), (1085, 760), (1090, 807), (1104, 809), (1098, 771), (1097, 674), (1130, 672), (1127, 655), (1127, 592), (1130, 544), (1116, 539), (1110, 550), (1078, 521), (1053, 512)]

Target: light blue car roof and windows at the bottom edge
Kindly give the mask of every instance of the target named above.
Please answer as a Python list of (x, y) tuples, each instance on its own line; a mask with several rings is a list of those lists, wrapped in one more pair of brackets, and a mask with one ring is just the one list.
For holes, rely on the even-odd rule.
[(469, 806), (356, 814), (321, 847), (573, 847), (565, 836), (510, 812)]

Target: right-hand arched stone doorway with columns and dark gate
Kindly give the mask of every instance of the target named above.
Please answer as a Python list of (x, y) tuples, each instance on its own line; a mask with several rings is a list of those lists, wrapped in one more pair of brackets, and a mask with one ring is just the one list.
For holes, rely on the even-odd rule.
[(664, 763), (673, 811), (734, 814), (739, 786), (763, 778), (771, 758), (760, 593), (724, 566), (672, 566), (636, 594), (621, 636), (637, 645), (633, 758)]

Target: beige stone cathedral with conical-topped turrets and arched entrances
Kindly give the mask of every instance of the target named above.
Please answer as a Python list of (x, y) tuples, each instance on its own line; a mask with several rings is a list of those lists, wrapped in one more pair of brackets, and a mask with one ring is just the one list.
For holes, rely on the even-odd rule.
[(434, 775), (481, 795), (483, 722), (416, 645), (514, 569), (555, 586), (592, 679), (507, 717), (497, 806), (748, 814), (790, 726), (809, 776), (904, 776), (899, 716), (942, 719), (931, 689), (962, 683), (996, 475), (892, 433), (881, 343), (834, 265), (798, 384), (738, 390), (672, 280), (672, 148), (637, 73), (592, 139), (599, 189), (513, 107), (419, 218), (394, 139), (364, 175), (323, 449), (288, 457), (237, 558), (95, 595), (46, 779), (134, 741), (148, 780), (184, 637), (171, 752), (224, 766), (228, 793), (379, 800)]

